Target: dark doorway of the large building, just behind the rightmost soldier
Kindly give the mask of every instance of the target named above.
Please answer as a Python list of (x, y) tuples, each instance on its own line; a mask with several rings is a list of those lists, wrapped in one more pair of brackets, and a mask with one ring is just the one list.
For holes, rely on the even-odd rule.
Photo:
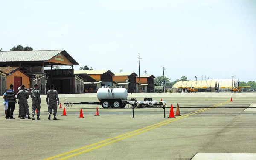
[(70, 79), (55, 79), (53, 84), (59, 94), (70, 93)]

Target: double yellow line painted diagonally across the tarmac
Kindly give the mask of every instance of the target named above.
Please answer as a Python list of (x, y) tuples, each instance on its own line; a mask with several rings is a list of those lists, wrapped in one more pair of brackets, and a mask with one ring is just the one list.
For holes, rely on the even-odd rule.
[[(65, 157), (58, 158), (58, 160), (65, 160), (65, 159), (67, 159), (67, 158), (74, 157), (74, 156), (76, 156), (76, 155), (79, 155), (79, 154), (82, 154), (82, 153), (85, 153), (85, 152), (89, 152), (89, 151), (91, 151), (91, 150), (93, 150), (93, 149), (97, 149), (97, 148), (100, 148), (100, 147), (102, 147), (102, 146), (106, 146), (106, 145), (108, 145), (108, 144), (117, 142), (117, 141), (119, 141), (119, 140), (123, 140), (123, 139), (125, 139), (125, 138), (129, 138), (129, 137), (131, 137), (131, 136), (138, 135), (138, 134), (140, 134), (140, 133), (149, 131), (149, 130), (151, 130), (151, 129), (155, 129), (155, 128), (158, 128), (158, 127), (160, 127), (160, 126), (163, 126), (163, 125), (172, 123), (172, 122), (174, 122), (174, 121), (177, 121), (177, 120), (180, 120), (180, 119), (182, 119), (182, 118), (185, 118), (185, 117), (194, 115), (194, 114), (196, 114), (196, 113), (203, 112), (203, 111), (206, 111), (206, 110), (208, 110), (208, 109), (221, 106), (221, 105), (226, 104), (226, 103), (228, 103), (228, 102), (230, 102), (230, 100), (225, 101), (225, 102), (220, 103), (220, 104), (215, 104), (215, 105), (210, 106), (210, 107), (207, 107), (207, 108), (199, 109), (199, 110), (197, 110), (197, 111), (194, 111), (194, 112), (191, 112), (191, 113), (188, 113), (188, 114), (185, 114), (185, 115), (181, 115), (181, 116), (179, 116), (179, 117), (176, 117), (175, 119), (168, 119), (168, 120), (166, 120), (166, 121), (162, 121), (162, 122), (159, 122), (159, 123), (156, 123), (156, 124), (152, 124), (152, 125), (150, 125), (150, 126), (146, 126), (146, 127), (141, 128), (141, 129), (134, 130), (134, 131), (132, 131), (132, 132), (128, 132), (128, 133), (125, 133), (125, 134), (122, 134), (122, 135), (118, 135), (118, 136), (113, 137), (113, 138), (109, 138), (109, 139), (102, 140), (102, 141), (99, 141), (99, 142), (96, 142), (96, 143), (92, 143), (92, 144), (90, 144), (90, 145), (87, 145), (87, 146), (84, 146), (84, 147), (81, 147), (81, 148), (78, 148), (78, 149), (74, 149), (74, 150), (71, 150), (71, 151), (69, 151), (69, 152), (64, 152), (64, 153), (62, 153), (62, 154), (58, 154), (58, 155), (55, 155), (55, 156), (46, 158), (46, 159), (44, 159), (44, 160), (52, 160), (52, 159), (55, 159), (55, 158), (62, 157), (62, 156), (65, 156), (65, 155), (67, 155), (67, 154), (70, 154), (70, 155), (67, 155), (67, 156), (65, 156)], [(100, 145), (98, 145), (98, 144), (100, 144)], [(96, 145), (98, 145), (98, 146), (96, 146)], [(94, 147), (92, 147), (92, 146), (94, 146)], [(89, 147), (92, 147), (92, 148), (87, 149), (87, 148), (89, 148)], [(85, 149), (85, 150), (83, 150), (83, 149)], [(82, 151), (80, 151), (80, 150), (82, 150)], [(80, 151), (80, 152), (78, 152), (78, 151)], [(77, 152), (77, 153), (74, 153), (74, 152)], [(74, 153), (74, 154), (71, 154), (71, 153)]]

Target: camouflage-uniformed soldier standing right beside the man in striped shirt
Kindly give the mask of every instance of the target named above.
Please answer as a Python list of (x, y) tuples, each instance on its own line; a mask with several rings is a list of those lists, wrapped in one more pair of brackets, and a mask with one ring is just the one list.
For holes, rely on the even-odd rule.
[(29, 93), (25, 90), (24, 85), (22, 85), (20, 88), (21, 90), (17, 93), (17, 98), (19, 99), (20, 105), (20, 115), (22, 116), (22, 118), (20, 119), (25, 119), (26, 115), (28, 115), (28, 119), (31, 119), (31, 117), (29, 116), (29, 105), (27, 100), (29, 98)]

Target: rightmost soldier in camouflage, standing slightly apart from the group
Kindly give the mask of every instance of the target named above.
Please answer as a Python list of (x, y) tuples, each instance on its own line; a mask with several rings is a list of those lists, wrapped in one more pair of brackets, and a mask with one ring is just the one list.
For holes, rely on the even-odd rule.
[[(48, 101), (49, 100), (49, 101)], [(51, 89), (48, 90), (47, 95), (46, 95), (46, 103), (48, 105), (48, 119), (51, 119), (51, 114), (52, 114), (52, 109), (53, 109), (53, 115), (54, 115), (54, 120), (57, 120), (56, 115), (57, 115), (57, 101), (58, 105), (60, 104), (60, 100), (58, 98), (58, 92), (54, 90), (54, 85), (51, 85)]]

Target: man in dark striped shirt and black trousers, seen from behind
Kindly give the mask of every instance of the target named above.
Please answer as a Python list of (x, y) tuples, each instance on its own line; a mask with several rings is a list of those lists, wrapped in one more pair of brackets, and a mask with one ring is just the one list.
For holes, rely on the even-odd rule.
[(13, 90), (13, 84), (10, 85), (10, 89), (6, 91), (6, 97), (8, 99), (8, 108), (6, 119), (15, 119), (13, 118), (13, 111), (15, 109), (15, 104), (17, 103), (15, 92)]

